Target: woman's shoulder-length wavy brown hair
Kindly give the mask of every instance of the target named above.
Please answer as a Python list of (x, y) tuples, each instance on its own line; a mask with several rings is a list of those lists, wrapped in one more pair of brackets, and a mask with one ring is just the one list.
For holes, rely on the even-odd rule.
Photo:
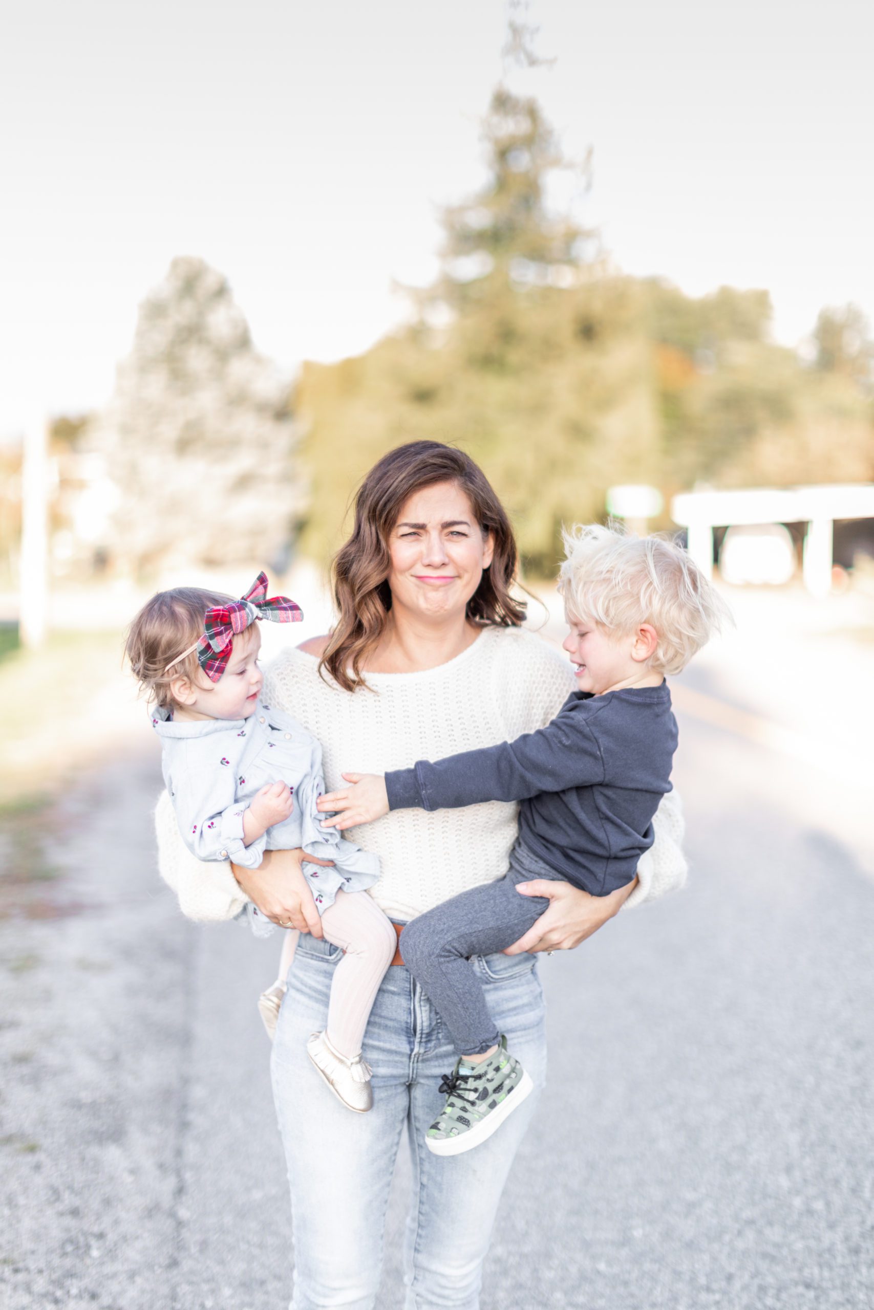
[(435, 482), (456, 482), (468, 495), (484, 533), (490, 532), (494, 555), (468, 601), (476, 624), (518, 627), (525, 604), (511, 595), (516, 576), (516, 541), (507, 514), (482, 469), (469, 455), (442, 441), (409, 441), (384, 455), (370, 470), (355, 496), (355, 527), (333, 563), (334, 603), (339, 618), (318, 669), (328, 669), (346, 692), (367, 683), (362, 662), (385, 630), (392, 608), (388, 540), (410, 495)]

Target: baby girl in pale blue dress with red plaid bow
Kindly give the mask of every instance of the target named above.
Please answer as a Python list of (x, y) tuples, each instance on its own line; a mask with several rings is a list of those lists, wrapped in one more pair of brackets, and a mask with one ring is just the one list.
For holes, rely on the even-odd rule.
[[(311, 1036), (307, 1051), (343, 1104), (363, 1112), (373, 1098), (362, 1039), (397, 935), (366, 891), (379, 876), (376, 855), (320, 825), (318, 741), (259, 700), (256, 620), (303, 618), (292, 600), (266, 593), (263, 574), (241, 600), (197, 587), (159, 592), (131, 624), (126, 650), (153, 702), (164, 782), (190, 850), (246, 869), (257, 869), (265, 850), (297, 848), (333, 862), (303, 863), (325, 938), (345, 952), (334, 969), (328, 1027)], [(257, 927), (259, 916), (250, 909)], [(296, 933), (286, 938), (283, 972), (259, 1002), (269, 1031), (296, 939)]]

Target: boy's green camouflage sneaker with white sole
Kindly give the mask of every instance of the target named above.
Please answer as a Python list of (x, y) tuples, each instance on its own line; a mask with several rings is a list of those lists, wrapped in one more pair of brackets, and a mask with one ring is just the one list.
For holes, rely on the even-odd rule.
[(480, 1064), (459, 1060), (440, 1082), (440, 1091), (447, 1094), (446, 1106), (425, 1136), (426, 1146), (435, 1155), (460, 1155), (472, 1150), (501, 1128), (533, 1086), (531, 1076), (507, 1051), (503, 1036), (487, 1060)]

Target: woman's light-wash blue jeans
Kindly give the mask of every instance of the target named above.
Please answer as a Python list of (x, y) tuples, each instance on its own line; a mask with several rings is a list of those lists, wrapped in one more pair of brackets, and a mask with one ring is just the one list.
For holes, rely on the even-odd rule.
[[(482, 1260), (514, 1155), (546, 1072), (544, 1000), (532, 955), (477, 958), (501, 1032), (535, 1093), (476, 1150), (432, 1155), (425, 1133), (446, 1096), (456, 1053), (404, 965), (392, 965), (364, 1034), (373, 1108), (355, 1115), (318, 1078), (307, 1038), (325, 1027), (339, 950), (301, 937), (273, 1048), (273, 1089), (288, 1165), (295, 1238), (291, 1310), (373, 1310), (394, 1159), (406, 1128), (413, 1196), (406, 1229), (406, 1310), (478, 1310)], [(523, 1186), (520, 1183), (520, 1186)]]

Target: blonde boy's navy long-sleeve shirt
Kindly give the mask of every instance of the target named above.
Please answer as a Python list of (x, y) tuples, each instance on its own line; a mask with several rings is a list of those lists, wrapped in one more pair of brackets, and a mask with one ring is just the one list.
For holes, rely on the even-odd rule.
[(630, 883), (653, 845), (676, 741), (667, 683), (571, 692), (537, 732), (387, 773), (389, 808), (520, 800), (519, 844), (575, 887), (607, 896)]

